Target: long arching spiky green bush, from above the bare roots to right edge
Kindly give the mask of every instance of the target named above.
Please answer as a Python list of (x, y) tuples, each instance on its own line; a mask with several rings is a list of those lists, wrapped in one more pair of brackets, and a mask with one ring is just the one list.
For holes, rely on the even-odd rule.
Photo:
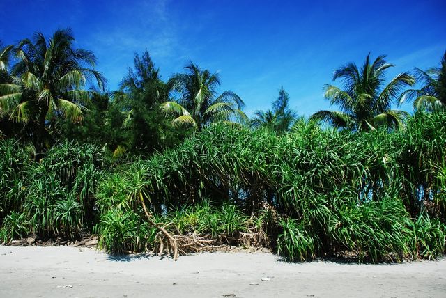
[(437, 232), (444, 224), (438, 221), (438, 230), (423, 236), (432, 237), (426, 243), (435, 252), (417, 253), (424, 244), (414, 240), (413, 218), (424, 209), (433, 218), (439, 214), (434, 211), (444, 186), (436, 169), (444, 164), (445, 117), (417, 113), (406, 130), (392, 133), (321, 130), (304, 120), (282, 136), (215, 125), (174, 150), (109, 175), (98, 198), (101, 205), (140, 212), (142, 196), (152, 212), (177, 210), (167, 221), (180, 233), (214, 237), (239, 230), (243, 221), (224, 230), (225, 211), (208, 211), (203, 198), (233, 202), (245, 214), (268, 203), (285, 218), (270, 226), (279, 224), (282, 232), (273, 228), (271, 234), (280, 235), (277, 249), (290, 260), (344, 250), (371, 262), (431, 258), (443, 253), (443, 234)]

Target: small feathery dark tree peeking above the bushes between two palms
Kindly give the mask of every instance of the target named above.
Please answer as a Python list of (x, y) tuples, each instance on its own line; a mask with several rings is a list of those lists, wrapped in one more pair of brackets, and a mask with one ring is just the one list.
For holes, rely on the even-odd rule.
[(255, 111), (252, 127), (267, 127), (275, 132), (288, 132), (296, 118), (295, 111), (289, 109), (289, 94), (281, 87), (279, 97), (272, 102), (272, 111)]

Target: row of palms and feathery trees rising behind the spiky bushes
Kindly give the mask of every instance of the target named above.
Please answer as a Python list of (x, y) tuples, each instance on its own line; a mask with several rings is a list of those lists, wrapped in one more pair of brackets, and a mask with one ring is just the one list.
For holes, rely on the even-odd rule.
[[(93, 52), (75, 47), (70, 29), (49, 38), (35, 33), (17, 45), (0, 44), (0, 133), (31, 144), (43, 152), (59, 139), (105, 146), (114, 156), (132, 152), (148, 156), (180, 143), (211, 123), (267, 127), (289, 132), (298, 114), (289, 108), (284, 88), (272, 109), (256, 111), (249, 119), (245, 102), (232, 91), (218, 94), (220, 75), (190, 63), (185, 73), (167, 82), (160, 78), (148, 52), (134, 55), (134, 65), (117, 91), (106, 91), (107, 80), (95, 70)], [(446, 53), (439, 68), (403, 72), (387, 83), (394, 65), (367, 55), (362, 67), (338, 68), (324, 95), (340, 111), (318, 111), (310, 117), (333, 127), (370, 131), (399, 129), (406, 111), (394, 103), (413, 102), (414, 110), (439, 111), (446, 104)], [(420, 88), (411, 88), (418, 83)]]

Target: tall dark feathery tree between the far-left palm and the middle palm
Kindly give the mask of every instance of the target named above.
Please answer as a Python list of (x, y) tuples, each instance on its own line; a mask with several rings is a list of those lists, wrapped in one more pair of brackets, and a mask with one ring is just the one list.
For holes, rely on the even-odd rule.
[(168, 86), (161, 80), (160, 70), (155, 68), (148, 52), (141, 56), (135, 54), (134, 68), (129, 68), (111, 103), (111, 109), (118, 109), (120, 114), (115, 111), (110, 116), (121, 123), (107, 127), (107, 130), (121, 130), (123, 136), (121, 140), (109, 143), (109, 146), (114, 146), (112, 150), (116, 155), (125, 148), (127, 153), (148, 156), (183, 139), (185, 132), (171, 127), (160, 110), (160, 104), (168, 96)]

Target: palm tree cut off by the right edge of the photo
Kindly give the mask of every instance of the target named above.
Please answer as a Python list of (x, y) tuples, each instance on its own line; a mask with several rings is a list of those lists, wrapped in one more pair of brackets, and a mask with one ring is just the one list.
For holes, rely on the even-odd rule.
[(422, 84), (420, 89), (409, 89), (399, 97), (399, 104), (413, 101), (413, 109), (443, 111), (446, 108), (446, 52), (440, 68), (420, 70), (415, 68), (415, 77)]

